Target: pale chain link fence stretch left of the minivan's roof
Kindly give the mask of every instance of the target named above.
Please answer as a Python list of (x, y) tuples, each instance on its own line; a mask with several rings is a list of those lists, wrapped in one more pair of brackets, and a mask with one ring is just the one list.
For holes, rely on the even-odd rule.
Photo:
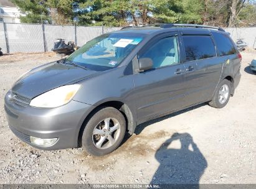
[(0, 22), (0, 47), (3, 53), (51, 51), (56, 39), (82, 46), (88, 40), (120, 27), (76, 25), (16, 24)]

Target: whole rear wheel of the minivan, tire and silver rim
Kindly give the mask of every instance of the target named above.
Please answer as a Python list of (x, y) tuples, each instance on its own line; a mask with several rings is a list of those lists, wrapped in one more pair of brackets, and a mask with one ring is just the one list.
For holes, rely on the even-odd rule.
[(209, 105), (214, 108), (223, 108), (229, 102), (231, 87), (232, 85), (229, 80), (221, 81)]

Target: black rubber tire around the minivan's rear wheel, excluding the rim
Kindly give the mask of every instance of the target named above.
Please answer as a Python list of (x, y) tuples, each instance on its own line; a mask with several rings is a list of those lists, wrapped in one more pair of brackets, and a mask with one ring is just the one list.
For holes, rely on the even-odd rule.
[[(225, 103), (220, 103), (219, 101), (219, 91), (220, 88), (224, 85), (227, 85), (229, 87), (229, 94), (227, 96), (227, 99), (225, 100)], [(209, 105), (214, 107), (214, 108), (223, 108), (228, 102), (229, 102), (229, 98), (230, 98), (230, 91), (232, 89), (232, 83), (229, 80), (223, 80), (219, 83), (219, 85), (217, 86), (217, 89), (214, 93), (214, 97), (212, 99), (212, 101), (209, 102)]]

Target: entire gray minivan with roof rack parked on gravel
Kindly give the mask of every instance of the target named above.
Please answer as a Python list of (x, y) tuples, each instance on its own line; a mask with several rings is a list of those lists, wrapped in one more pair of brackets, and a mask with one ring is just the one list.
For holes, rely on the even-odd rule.
[(22, 75), (5, 97), (7, 121), (38, 149), (109, 154), (142, 122), (205, 102), (223, 108), (241, 58), (221, 28), (128, 27)]

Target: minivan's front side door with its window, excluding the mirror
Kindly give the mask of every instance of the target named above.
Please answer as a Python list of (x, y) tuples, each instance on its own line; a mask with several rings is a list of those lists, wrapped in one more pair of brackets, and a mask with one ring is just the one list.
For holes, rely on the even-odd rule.
[(179, 40), (176, 34), (153, 39), (138, 53), (151, 58), (153, 68), (135, 74), (135, 98), (138, 122), (184, 106), (184, 64), (179, 61)]

